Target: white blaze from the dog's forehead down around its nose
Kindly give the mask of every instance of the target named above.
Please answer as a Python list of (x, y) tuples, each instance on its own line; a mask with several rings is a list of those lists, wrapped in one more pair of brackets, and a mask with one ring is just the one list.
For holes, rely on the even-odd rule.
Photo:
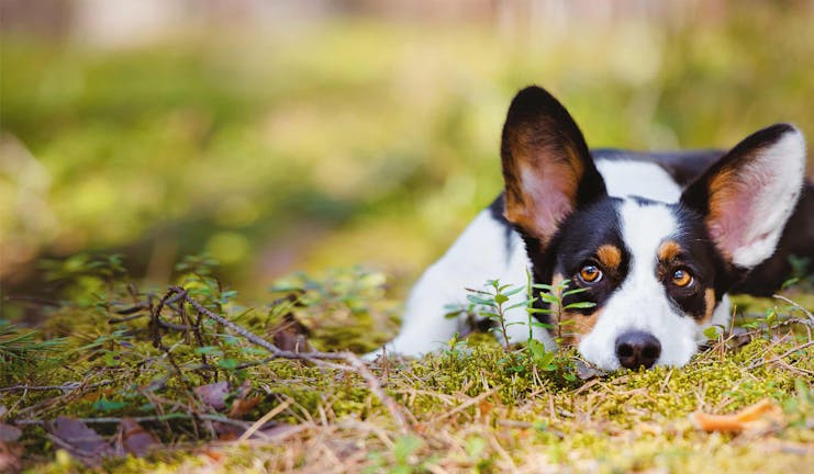
[(618, 214), (622, 238), (631, 256), (629, 269), (579, 350), (603, 369), (618, 369), (616, 338), (640, 330), (661, 343), (657, 364), (683, 365), (695, 353), (698, 325), (674, 307), (656, 274), (658, 248), (680, 233), (679, 224), (672, 211), (658, 203), (625, 200)]

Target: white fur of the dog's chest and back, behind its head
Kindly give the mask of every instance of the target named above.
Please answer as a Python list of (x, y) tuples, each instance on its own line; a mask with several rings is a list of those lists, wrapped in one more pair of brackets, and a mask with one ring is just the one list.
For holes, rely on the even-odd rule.
[[(611, 195), (624, 196), (627, 193), (623, 190), (632, 189), (633, 194), (653, 200), (674, 202), (680, 196), (680, 188), (656, 165), (598, 160), (596, 166)], [(466, 303), (467, 287), (482, 289), (487, 280), (494, 278), (499, 278), (501, 283), (525, 284), (526, 269), (531, 262), (520, 235), (513, 230), (509, 235), (511, 241), (506, 242), (505, 227), (491, 216), (489, 210), (481, 211), (449, 250), (413, 286), (399, 335), (386, 345), (388, 353), (422, 356), (446, 347), (456, 331), (465, 329), (465, 321), (444, 318), (445, 307)], [(506, 306), (523, 297), (527, 297), (525, 292), (517, 293)], [(508, 323), (521, 323), (508, 327), (511, 342), (522, 342), (528, 338), (527, 320), (523, 308), (506, 314)], [(556, 347), (547, 331), (535, 327), (533, 334), (547, 348)], [(379, 354), (381, 349), (368, 353), (366, 358), (375, 359)]]

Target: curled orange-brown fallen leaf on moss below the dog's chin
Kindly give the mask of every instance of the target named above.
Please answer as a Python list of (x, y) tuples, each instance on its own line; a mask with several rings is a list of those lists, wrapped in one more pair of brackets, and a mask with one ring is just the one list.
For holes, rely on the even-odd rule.
[(695, 411), (690, 418), (699, 429), (704, 431), (761, 432), (785, 425), (782, 408), (769, 398), (763, 398), (731, 415)]

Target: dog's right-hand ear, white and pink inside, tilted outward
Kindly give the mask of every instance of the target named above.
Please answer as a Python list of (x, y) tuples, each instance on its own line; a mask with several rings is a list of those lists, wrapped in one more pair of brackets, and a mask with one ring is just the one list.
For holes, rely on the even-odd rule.
[(777, 124), (740, 142), (684, 191), (722, 256), (751, 269), (771, 257), (800, 196), (805, 139)]

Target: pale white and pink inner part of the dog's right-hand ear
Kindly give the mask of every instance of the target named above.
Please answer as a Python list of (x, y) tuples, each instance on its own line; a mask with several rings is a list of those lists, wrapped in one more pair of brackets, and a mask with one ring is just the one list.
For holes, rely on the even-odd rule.
[(750, 187), (754, 194), (749, 215), (743, 216), (748, 225), (738, 239), (740, 245), (727, 249), (735, 264), (752, 268), (774, 252), (800, 195), (804, 168), (805, 139), (794, 128), (740, 170), (743, 180), (754, 184)]

